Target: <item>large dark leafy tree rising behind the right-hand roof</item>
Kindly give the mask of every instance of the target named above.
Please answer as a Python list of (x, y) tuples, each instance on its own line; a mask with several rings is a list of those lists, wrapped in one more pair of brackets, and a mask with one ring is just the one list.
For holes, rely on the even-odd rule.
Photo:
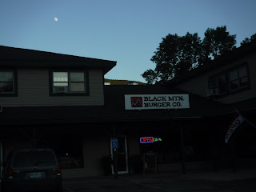
[(205, 38), (201, 40), (198, 34), (187, 33), (185, 36), (168, 34), (162, 38), (151, 61), (156, 64), (154, 70), (146, 70), (142, 77), (149, 84), (169, 82), (172, 78), (181, 76), (184, 72), (204, 65), (227, 50), (233, 50), (236, 35), (230, 35), (226, 26), (216, 29), (208, 28)]

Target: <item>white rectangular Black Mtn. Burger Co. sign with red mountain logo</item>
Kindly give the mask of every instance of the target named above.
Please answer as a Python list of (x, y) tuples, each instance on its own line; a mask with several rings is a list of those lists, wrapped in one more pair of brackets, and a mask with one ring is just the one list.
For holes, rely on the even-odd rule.
[(126, 110), (165, 110), (190, 108), (188, 94), (126, 94)]

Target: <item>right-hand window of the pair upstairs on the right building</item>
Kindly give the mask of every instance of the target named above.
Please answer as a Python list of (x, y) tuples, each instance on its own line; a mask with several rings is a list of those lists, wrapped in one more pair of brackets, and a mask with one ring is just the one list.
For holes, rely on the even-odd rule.
[(231, 70), (230, 77), (230, 91), (238, 90), (249, 86), (249, 79), (246, 66), (241, 66), (236, 70)]

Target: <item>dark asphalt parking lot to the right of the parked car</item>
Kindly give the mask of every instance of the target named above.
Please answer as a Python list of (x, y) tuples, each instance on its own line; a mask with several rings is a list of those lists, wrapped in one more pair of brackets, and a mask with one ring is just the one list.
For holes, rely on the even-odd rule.
[(256, 174), (141, 174), (112, 177), (64, 179), (63, 192), (82, 191), (256, 191)]

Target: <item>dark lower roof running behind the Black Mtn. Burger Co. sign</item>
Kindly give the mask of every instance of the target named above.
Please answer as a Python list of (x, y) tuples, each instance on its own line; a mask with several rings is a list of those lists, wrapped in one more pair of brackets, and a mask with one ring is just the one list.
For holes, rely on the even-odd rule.
[(211, 117), (225, 105), (190, 95), (190, 109), (125, 110), (125, 94), (188, 94), (162, 86), (105, 86), (105, 106), (3, 107), (0, 125), (190, 120)]

